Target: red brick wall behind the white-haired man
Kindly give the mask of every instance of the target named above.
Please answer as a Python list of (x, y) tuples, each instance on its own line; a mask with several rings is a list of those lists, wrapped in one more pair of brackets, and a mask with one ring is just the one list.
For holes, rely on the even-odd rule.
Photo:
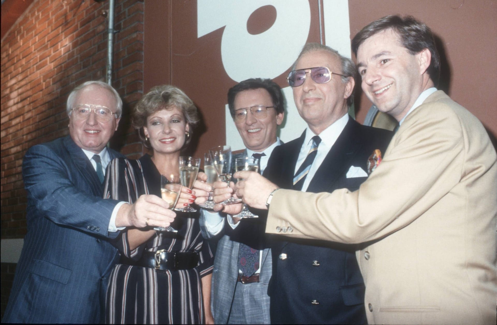
[[(109, 1), (35, 0), (1, 41), (1, 239), (26, 234), (21, 165), (26, 150), (69, 133), (65, 102), (87, 80), (105, 81)], [(137, 157), (129, 110), (143, 93), (144, 3), (116, 0), (112, 85), (123, 119), (111, 146)], [(1, 314), (15, 264), (1, 263)]]

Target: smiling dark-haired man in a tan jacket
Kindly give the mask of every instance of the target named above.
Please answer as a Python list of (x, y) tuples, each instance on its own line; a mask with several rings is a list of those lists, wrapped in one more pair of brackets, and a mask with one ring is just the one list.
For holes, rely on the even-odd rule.
[(434, 88), (425, 24), (381, 18), (352, 49), (363, 91), (400, 123), (368, 180), (313, 194), (239, 172), (237, 195), (269, 208), (267, 233), (362, 243), (369, 324), (496, 324), (497, 162), (486, 130)]

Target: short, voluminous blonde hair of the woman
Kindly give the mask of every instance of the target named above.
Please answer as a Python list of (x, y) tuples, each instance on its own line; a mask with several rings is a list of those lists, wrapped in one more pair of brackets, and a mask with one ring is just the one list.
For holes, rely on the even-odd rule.
[(142, 97), (135, 105), (131, 115), (131, 125), (138, 130), (138, 136), (142, 143), (150, 148), (143, 127), (147, 125), (147, 118), (160, 110), (172, 110), (173, 106), (183, 112), (186, 123), (190, 126), (185, 145), (190, 142), (193, 128), (198, 124), (200, 118), (193, 101), (179, 88), (171, 85), (155, 86)]

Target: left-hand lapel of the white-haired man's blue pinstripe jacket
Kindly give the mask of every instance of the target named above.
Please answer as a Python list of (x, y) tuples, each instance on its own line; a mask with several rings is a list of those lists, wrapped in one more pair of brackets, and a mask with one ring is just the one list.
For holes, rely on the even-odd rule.
[[(85, 180), (85, 183), (91, 188), (91, 193), (95, 196), (102, 196), (103, 189), (100, 180), (96, 175), (95, 169), (91, 165), (83, 150), (74, 143), (71, 136), (64, 138), (66, 146), (74, 165), (76, 166), (79, 175)], [(76, 174), (76, 173), (75, 173)]]

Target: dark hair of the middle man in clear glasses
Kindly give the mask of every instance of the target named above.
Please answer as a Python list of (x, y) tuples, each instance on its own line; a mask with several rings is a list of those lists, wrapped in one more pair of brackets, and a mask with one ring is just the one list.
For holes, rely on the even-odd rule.
[(271, 79), (250, 78), (234, 85), (228, 90), (228, 107), (230, 108), (231, 117), (235, 117), (235, 97), (237, 94), (250, 89), (265, 89), (271, 96), (276, 114), (285, 112), (285, 97), (281, 92), (280, 86)]

